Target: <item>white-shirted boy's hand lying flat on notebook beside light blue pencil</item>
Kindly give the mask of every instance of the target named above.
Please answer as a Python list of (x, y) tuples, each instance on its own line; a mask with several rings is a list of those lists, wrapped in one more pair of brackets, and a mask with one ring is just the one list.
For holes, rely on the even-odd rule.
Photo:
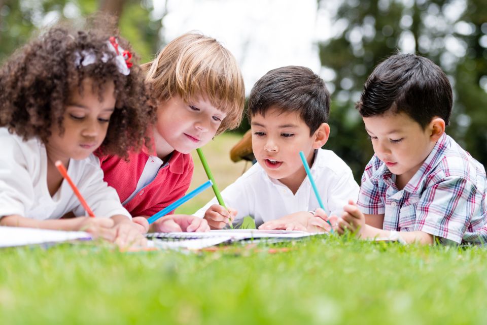
[[(323, 210), (322, 210), (323, 211)], [(324, 212), (324, 211), (323, 211)], [(261, 230), (297, 230), (309, 233), (323, 233), (330, 231), (330, 225), (324, 217), (316, 217), (310, 212), (296, 212), (279, 219), (267, 221), (259, 226)]]

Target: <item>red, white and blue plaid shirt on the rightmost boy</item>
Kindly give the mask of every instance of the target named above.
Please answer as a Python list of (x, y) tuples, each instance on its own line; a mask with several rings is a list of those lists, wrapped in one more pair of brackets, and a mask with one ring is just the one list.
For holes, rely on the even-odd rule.
[(485, 170), (444, 134), (402, 190), (376, 155), (362, 176), (357, 205), (384, 214), (384, 230), (422, 231), (454, 241), (487, 242)]

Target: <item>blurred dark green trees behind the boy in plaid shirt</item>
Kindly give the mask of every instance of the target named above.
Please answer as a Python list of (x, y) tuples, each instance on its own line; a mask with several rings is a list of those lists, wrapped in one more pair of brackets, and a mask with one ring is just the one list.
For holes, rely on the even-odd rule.
[(319, 0), (335, 10), (334, 35), (319, 44), (323, 75), (332, 95), (331, 135), (326, 144), (360, 180), (373, 154), (355, 110), (373, 68), (396, 52), (424, 55), (451, 77), (454, 114), (447, 133), (482, 164), (487, 163), (487, 7), (483, 0)]

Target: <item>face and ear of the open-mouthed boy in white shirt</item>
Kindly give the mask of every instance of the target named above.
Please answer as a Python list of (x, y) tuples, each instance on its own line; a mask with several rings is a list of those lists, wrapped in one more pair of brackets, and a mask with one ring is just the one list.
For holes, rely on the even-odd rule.
[[(322, 125), (328, 125), (323, 123)], [(290, 188), (299, 187), (306, 172), (299, 151), (311, 165), (315, 149), (320, 148), (328, 139), (317, 142), (317, 133), (309, 136), (309, 127), (298, 112), (280, 112), (270, 108), (265, 117), (261, 114), (252, 116), (252, 149), (257, 162), (269, 177), (279, 179)], [(320, 134), (320, 137), (322, 134)], [(296, 188), (297, 189), (297, 188)]]

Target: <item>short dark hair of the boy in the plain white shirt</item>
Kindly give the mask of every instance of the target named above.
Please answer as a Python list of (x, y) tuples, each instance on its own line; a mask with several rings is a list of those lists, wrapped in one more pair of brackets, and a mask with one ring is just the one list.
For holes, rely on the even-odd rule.
[(330, 92), (323, 79), (308, 68), (277, 68), (266, 73), (252, 88), (247, 108), (249, 122), (256, 114), (265, 116), (271, 107), (282, 112), (299, 112), (312, 135), (328, 121)]

